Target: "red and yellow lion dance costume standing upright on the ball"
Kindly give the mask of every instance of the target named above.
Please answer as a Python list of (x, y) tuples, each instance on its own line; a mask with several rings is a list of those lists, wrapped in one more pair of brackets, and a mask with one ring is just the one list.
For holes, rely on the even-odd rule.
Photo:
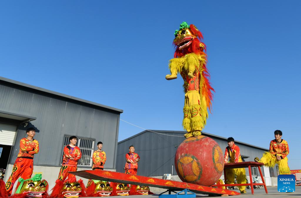
[(171, 74), (167, 80), (177, 78), (180, 73), (184, 79), (185, 103), (183, 127), (187, 131), (185, 138), (201, 135), (208, 118), (207, 108), (211, 109), (214, 89), (209, 82), (209, 72), (206, 68), (206, 46), (202, 33), (193, 24), (181, 23), (180, 29), (175, 30), (174, 58), (169, 60)]

